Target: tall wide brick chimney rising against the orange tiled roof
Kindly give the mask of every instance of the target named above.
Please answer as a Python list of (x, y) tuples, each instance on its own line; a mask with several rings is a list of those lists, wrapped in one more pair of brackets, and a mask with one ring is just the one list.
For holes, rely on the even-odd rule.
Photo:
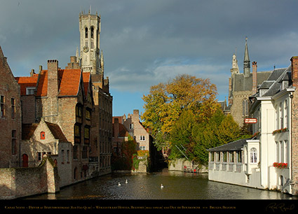
[(58, 61), (48, 60), (48, 97), (57, 97), (58, 94)]

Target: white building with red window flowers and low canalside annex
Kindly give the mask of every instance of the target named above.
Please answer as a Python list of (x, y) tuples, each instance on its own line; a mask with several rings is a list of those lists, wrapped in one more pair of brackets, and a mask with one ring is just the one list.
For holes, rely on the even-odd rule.
[(291, 66), (274, 69), (250, 97), (254, 137), (209, 149), (209, 180), (292, 194), (293, 92)]

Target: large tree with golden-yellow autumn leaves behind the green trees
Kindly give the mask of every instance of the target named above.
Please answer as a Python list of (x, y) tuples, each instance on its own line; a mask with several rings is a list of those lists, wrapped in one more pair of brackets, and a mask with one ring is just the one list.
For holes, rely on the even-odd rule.
[(151, 129), (158, 150), (170, 146), (170, 132), (182, 110), (191, 110), (197, 122), (204, 122), (219, 108), (216, 101), (217, 88), (209, 79), (187, 74), (176, 76), (168, 83), (151, 86), (143, 96), (145, 127)]

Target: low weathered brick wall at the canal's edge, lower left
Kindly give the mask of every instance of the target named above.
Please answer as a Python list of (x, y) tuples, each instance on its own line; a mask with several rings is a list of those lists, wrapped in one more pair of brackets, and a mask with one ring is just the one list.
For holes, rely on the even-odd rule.
[(16, 199), (60, 190), (57, 167), (44, 157), (37, 167), (0, 169), (0, 199)]

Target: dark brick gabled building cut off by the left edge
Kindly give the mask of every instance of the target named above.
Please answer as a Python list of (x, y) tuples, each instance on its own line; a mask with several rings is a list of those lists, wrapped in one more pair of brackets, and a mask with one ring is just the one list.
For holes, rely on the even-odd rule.
[(20, 86), (0, 46), (0, 168), (20, 166)]

